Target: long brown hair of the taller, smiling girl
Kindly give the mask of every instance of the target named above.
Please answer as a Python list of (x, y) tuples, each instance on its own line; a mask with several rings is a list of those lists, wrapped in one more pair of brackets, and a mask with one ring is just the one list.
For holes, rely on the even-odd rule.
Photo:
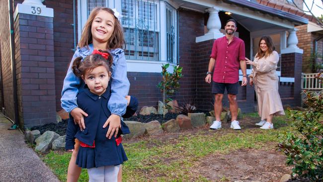
[(122, 25), (118, 20), (118, 18), (114, 16), (114, 11), (108, 7), (95, 7), (91, 11), (90, 15), (86, 20), (84, 28), (82, 30), (81, 39), (78, 46), (85, 47), (92, 43), (92, 33), (91, 33), (92, 22), (95, 16), (97, 15), (97, 13), (101, 10), (107, 11), (108, 13), (112, 14), (114, 17), (114, 30), (112, 32), (110, 39), (108, 40), (107, 49), (123, 48), (123, 46), (125, 45), (125, 40), (124, 40)]

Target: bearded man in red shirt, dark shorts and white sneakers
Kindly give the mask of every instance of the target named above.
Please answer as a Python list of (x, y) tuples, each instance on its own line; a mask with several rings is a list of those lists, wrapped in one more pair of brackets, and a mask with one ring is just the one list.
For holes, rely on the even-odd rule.
[(229, 19), (225, 26), (226, 35), (214, 41), (208, 72), (205, 82), (211, 83), (212, 71), (212, 93), (215, 94), (214, 111), (216, 120), (210, 129), (221, 128), (222, 98), (225, 89), (228, 92), (231, 112), (231, 128), (240, 130), (238, 115), (237, 94), (239, 87), (239, 66), (242, 70), (242, 85), (246, 86), (246, 63), (244, 53), (244, 42), (234, 36), (237, 30), (237, 23), (234, 19)]

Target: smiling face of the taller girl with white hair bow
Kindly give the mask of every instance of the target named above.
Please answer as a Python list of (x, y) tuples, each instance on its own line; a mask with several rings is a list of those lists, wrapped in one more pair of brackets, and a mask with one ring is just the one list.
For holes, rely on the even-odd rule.
[(91, 24), (92, 41), (98, 43), (108, 42), (114, 30), (114, 15), (100, 10)]

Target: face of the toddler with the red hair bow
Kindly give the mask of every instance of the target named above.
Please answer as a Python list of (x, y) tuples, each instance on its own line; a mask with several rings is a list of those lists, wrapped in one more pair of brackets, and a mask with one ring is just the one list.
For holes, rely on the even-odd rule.
[(101, 95), (108, 87), (110, 73), (104, 66), (98, 66), (91, 71), (86, 71), (82, 79), (92, 93)]

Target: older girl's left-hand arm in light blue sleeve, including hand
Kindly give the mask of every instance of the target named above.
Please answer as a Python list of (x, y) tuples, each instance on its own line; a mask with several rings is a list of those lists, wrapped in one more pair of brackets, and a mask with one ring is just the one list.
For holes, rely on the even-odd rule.
[(81, 79), (77, 77), (72, 71), (72, 65), (75, 58), (80, 56), (80, 49), (74, 53), (72, 61), (70, 63), (69, 69), (67, 71), (66, 77), (64, 79), (61, 106), (67, 112), (70, 112), (74, 118), (75, 123), (79, 123), (80, 128), (85, 128), (84, 116), (87, 114), (78, 107), (76, 95), (79, 92), (79, 86), (81, 84)]

